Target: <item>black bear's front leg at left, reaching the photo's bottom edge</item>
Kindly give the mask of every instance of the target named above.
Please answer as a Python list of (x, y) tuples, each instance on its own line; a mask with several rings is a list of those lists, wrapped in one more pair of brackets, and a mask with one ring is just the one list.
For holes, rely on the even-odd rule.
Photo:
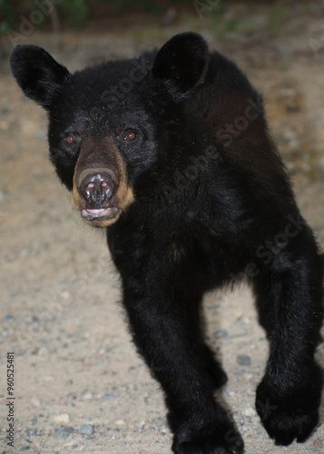
[(241, 435), (213, 397), (214, 380), (207, 364), (211, 358), (201, 341), (200, 323), (193, 317), (200, 301), (184, 301), (170, 288), (162, 289), (160, 282), (151, 281), (139, 291), (124, 282), (123, 303), (133, 341), (162, 385), (174, 433), (172, 450), (240, 454), (244, 451)]

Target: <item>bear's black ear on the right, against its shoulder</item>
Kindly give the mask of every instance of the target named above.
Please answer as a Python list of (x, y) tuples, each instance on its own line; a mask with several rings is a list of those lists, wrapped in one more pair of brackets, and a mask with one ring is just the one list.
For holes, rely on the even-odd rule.
[(155, 57), (152, 75), (182, 93), (201, 84), (207, 73), (210, 53), (205, 40), (193, 32), (175, 35)]

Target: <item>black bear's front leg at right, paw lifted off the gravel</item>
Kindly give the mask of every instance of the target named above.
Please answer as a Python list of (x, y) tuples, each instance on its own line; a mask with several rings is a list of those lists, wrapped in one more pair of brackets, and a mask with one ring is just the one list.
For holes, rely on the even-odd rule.
[(255, 283), (260, 323), (270, 340), (256, 408), (278, 445), (305, 441), (319, 421), (323, 377), (314, 353), (323, 314), (322, 270), (313, 244), (304, 244), (303, 257), (274, 261), (280, 271), (263, 271)]

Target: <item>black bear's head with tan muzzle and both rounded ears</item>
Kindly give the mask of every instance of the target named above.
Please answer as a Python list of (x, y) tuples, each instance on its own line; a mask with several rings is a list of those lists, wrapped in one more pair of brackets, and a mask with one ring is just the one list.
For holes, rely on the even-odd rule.
[(171, 160), (175, 143), (190, 142), (192, 125), (180, 106), (208, 64), (207, 44), (194, 33), (174, 36), (159, 52), (74, 74), (41, 47), (15, 47), (13, 74), (48, 112), (51, 161), (85, 222), (116, 222), (141, 177)]

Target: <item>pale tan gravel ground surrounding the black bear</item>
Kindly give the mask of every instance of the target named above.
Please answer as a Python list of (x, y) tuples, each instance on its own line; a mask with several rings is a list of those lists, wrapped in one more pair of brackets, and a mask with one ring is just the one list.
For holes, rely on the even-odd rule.
[[(318, 2), (320, 3), (320, 2)], [(227, 34), (209, 43), (231, 56), (265, 95), (272, 133), (296, 186), (302, 212), (324, 246), (324, 15), (297, 21), (295, 33)], [(162, 44), (180, 23), (154, 35), (128, 27), (64, 33), (59, 49), (44, 46), (75, 70), (107, 57)], [(198, 28), (198, 25), (197, 25)], [(136, 33), (135, 33), (136, 32)], [(324, 44), (323, 44), (324, 47)], [(169, 454), (162, 392), (137, 356), (120, 305), (103, 232), (71, 209), (46, 157), (46, 119), (27, 101), (3, 62), (0, 79), (0, 452)], [(205, 301), (213, 348), (229, 382), (219, 394), (231, 410), (248, 454), (324, 452), (324, 429), (305, 444), (275, 447), (254, 410), (254, 392), (267, 357), (248, 288), (211, 293)], [(6, 352), (15, 352), (15, 448), (6, 445)], [(324, 365), (324, 349), (319, 347)], [(324, 406), (321, 420), (324, 419)]]

